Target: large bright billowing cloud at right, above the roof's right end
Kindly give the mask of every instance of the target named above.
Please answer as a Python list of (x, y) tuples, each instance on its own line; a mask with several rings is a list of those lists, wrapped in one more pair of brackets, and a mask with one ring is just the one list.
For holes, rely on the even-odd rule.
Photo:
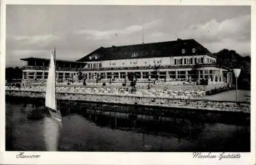
[(178, 33), (177, 38), (194, 38), (211, 52), (233, 49), (240, 54), (250, 54), (250, 15), (218, 22), (216, 19), (191, 25)]

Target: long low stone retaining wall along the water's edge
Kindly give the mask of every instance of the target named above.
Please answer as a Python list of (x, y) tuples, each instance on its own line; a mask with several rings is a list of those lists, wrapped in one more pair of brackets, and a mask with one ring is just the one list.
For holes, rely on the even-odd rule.
[[(45, 98), (45, 92), (39, 91), (13, 91), (6, 90), (7, 96)], [(139, 96), (122, 96), (122, 95), (99, 95), (99, 94), (82, 94), (74, 92), (57, 92), (59, 100), (71, 101), (90, 101), (115, 104), (146, 105), (160, 106), (185, 109), (203, 109), (218, 111), (237, 111), (250, 112), (250, 103), (247, 102), (227, 102), (227, 101), (209, 101), (196, 99), (170, 99), (161, 97), (139, 97)]]

